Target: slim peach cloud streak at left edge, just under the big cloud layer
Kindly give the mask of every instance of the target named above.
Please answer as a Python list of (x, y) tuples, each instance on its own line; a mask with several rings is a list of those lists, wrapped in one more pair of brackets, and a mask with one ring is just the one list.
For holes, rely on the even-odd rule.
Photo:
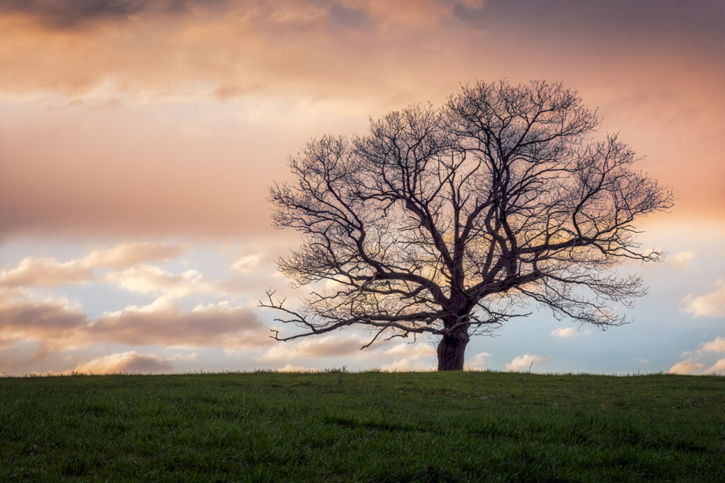
[(97, 280), (94, 269), (124, 269), (148, 261), (178, 258), (186, 247), (164, 243), (122, 243), (109, 250), (92, 251), (83, 259), (25, 258), (0, 272), (0, 287), (59, 287)]

